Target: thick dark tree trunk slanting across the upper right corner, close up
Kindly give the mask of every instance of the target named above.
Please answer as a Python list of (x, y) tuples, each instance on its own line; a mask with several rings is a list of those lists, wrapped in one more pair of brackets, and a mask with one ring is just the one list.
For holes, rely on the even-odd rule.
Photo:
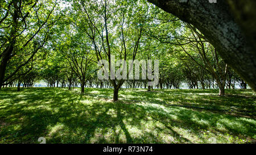
[[(237, 16), (243, 15), (238, 11), (241, 6), (237, 5), (238, 1), (235, 0), (217, 1), (217, 3), (209, 3), (206, 0), (148, 1), (174, 14), (184, 22), (193, 24), (213, 44), (224, 61), (240, 74), (254, 91), (256, 90), (256, 39), (255, 33), (250, 33), (251, 31), (256, 32), (255, 18), (250, 18), (250, 15), (251, 17), (256, 16), (254, 0), (239, 1), (243, 5), (242, 10), (247, 8), (250, 10), (250, 13), (245, 13), (244, 17), (250, 21), (249, 23), (252, 23), (252, 25), (250, 24), (251, 28), (247, 28), (246, 24), (242, 24), (242, 27), (245, 28), (241, 28), (235, 22), (230, 10), (237, 12)], [(250, 3), (246, 4), (246, 2)], [(239, 21), (238, 23), (243, 23), (243, 21)], [(246, 36), (249, 36), (249, 40), (253, 38), (253, 42), (247, 41)]]

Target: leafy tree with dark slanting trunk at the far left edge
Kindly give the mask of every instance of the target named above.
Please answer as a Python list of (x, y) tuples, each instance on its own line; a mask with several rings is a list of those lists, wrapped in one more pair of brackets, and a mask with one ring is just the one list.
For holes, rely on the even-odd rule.
[[(3, 1), (1, 1), (3, 2)], [(44, 46), (51, 27), (58, 20), (53, 16), (57, 1), (4, 1), (0, 19), (0, 89), (3, 83), (22, 66), (28, 64)], [(32, 49), (32, 50), (30, 50)], [(30, 51), (9, 77), (5, 77), (9, 60), (24, 51)]]

